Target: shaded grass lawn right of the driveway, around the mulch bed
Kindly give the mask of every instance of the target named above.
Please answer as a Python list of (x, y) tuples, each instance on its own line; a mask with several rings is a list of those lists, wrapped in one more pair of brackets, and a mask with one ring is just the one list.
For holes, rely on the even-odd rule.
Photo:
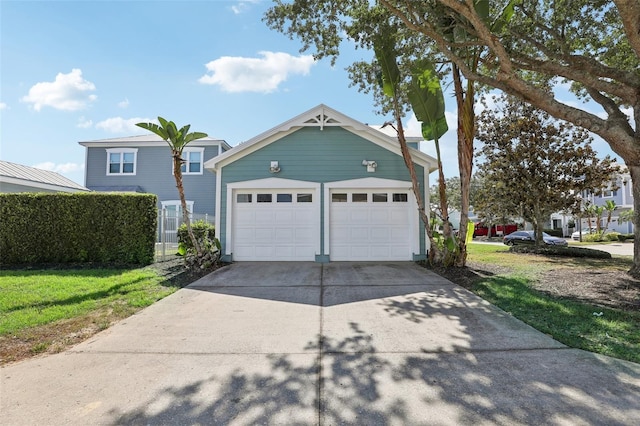
[(552, 297), (532, 286), (541, 272), (551, 268), (566, 268), (567, 274), (573, 267), (628, 270), (629, 259), (553, 259), (507, 251), (501, 246), (469, 245), (470, 261), (510, 268), (507, 273), (481, 278), (473, 292), (568, 346), (640, 362), (639, 311)]

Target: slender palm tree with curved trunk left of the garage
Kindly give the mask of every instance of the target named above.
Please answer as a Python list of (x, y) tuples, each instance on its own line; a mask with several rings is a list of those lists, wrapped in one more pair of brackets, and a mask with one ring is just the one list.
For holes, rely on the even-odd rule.
[(197, 258), (202, 259), (202, 247), (196, 239), (193, 229), (191, 228), (191, 221), (189, 220), (189, 211), (187, 210), (187, 200), (184, 196), (184, 186), (182, 184), (182, 164), (184, 159), (182, 158), (182, 151), (187, 144), (196, 139), (206, 138), (208, 135), (202, 132), (189, 133), (190, 124), (182, 127), (180, 130), (176, 127), (173, 121), (167, 121), (162, 117), (158, 117), (160, 125), (155, 123), (137, 123), (136, 126), (149, 130), (152, 133), (160, 136), (164, 141), (169, 144), (171, 148), (171, 157), (173, 157), (173, 176), (176, 179), (176, 188), (178, 188), (178, 194), (180, 195), (180, 204), (182, 206), (182, 219), (187, 226), (187, 232), (189, 238), (193, 243), (193, 247), (196, 249)]

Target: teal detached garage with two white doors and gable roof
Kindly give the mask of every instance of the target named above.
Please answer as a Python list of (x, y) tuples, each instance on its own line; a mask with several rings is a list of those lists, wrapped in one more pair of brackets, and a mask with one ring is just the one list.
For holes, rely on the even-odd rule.
[[(433, 157), (411, 150), (424, 200)], [(395, 136), (319, 105), (208, 160), (226, 261), (425, 259)]]

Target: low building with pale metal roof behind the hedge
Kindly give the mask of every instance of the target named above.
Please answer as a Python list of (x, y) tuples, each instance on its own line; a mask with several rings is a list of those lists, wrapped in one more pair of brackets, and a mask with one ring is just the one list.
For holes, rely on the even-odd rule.
[(0, 192), (83, 191), (89, 190), (56, 172), (0, 161)]

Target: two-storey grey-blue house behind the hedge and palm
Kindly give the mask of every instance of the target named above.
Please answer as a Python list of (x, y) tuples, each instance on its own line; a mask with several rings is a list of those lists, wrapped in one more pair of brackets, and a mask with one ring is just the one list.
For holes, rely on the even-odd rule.
[[(142, 136), (80, 142), (86, 148), (85, 185), (93, 191), (143, 192), (158, 196), (158, 208), (181, 216), (180, 197), (173, 176), (173, 159), (166, 141)], [(216, 175), (204, 169), (207, 160), (231, 147), (210, 137), (184, 149), (183, 183), (191, 213), (215, 214)]]

